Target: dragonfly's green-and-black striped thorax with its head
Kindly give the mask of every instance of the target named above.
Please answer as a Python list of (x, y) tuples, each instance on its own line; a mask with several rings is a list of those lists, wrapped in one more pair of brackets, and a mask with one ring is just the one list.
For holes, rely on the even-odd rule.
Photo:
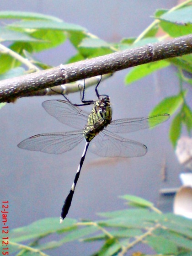
[(107, 95), (100, 95), (95, 101), (91, 114), (88, 117), (87, 125), (84, 129), (84, 137), (90, 142), (100, 131), (112, 121), (112, 108)]

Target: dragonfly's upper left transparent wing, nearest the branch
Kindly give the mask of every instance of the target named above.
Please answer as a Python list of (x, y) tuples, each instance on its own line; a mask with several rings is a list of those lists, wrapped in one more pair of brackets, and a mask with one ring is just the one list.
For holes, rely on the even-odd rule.
[(57, 118), (61, 123), (67, 124), (73, 128), (84, 128), (89, 114), (63, 100), (49, 100), (42, 103), (44, 109), (49, 115)]

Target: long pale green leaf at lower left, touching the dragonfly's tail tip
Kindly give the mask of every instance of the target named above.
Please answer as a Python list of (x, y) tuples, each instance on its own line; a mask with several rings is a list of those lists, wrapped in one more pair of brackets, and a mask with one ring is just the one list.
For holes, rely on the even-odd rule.
[(76, 220), (65, 219), (63, 224), (59, 223), (58, 218), (46, 218), (40, 219), (28, 226), (24, 226), (18, 229), (12, 229), (10, 231), (10, 240), (14, 242), (23, 242), (32, 238), (38, 238), (58, 231), (67, 231), (69, 229), (75, 229), (74, 224)]

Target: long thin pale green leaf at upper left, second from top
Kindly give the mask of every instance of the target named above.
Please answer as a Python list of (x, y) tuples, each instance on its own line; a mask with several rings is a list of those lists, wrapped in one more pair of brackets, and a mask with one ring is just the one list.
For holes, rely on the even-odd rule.
[(84, 27), (73, 23), (66, 23), (64, 21), (17, 21), (8, 25), (13, 28), (31, 28), (31, 29), (54, 29), (54, 30), (64, 30), (64, 31), (86, 31)]

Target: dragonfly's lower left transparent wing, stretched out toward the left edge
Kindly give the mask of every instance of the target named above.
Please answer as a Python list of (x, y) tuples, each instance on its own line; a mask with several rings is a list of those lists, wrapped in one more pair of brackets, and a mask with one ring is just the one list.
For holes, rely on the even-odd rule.
[(66, 133), (42, 133), (21, 141), (18, 147), (48, 154), (62, 154), (73, 149), (83, 138), (83, 130)]

